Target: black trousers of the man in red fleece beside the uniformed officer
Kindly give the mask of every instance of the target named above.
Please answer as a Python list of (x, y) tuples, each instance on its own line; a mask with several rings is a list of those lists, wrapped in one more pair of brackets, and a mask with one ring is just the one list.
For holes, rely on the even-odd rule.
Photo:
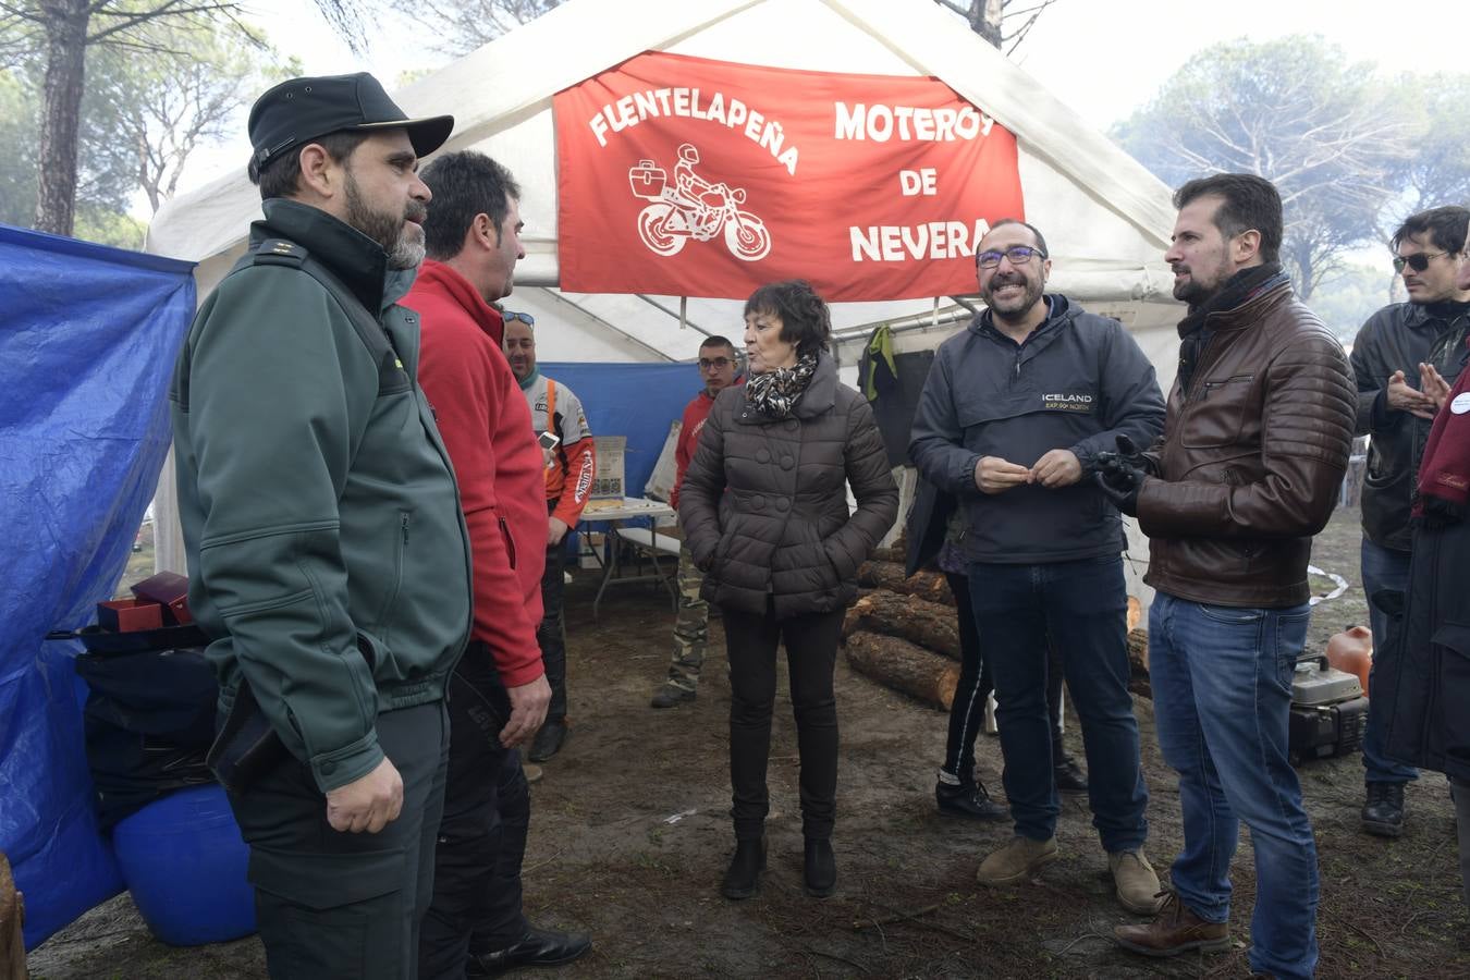
[(434, 902), (419, 936), (420, 980), (459, 980), (470, 949), (504, 949), (528, 929), (520, 862), (531, 793), (520, 751), (500, 743), (510, 698), (484, 644), (472, 644), (454, 669), (448, 714), (448, 786), (434, 852)]

